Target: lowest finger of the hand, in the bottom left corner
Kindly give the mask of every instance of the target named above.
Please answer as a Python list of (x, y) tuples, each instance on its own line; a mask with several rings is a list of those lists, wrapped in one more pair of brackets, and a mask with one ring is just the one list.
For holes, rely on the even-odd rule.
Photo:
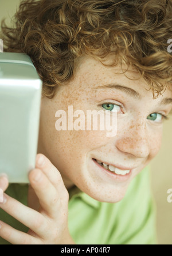
[(41, 240), (10, 227), (0, 221), (0, 236), (11, 244), (38, 244)]

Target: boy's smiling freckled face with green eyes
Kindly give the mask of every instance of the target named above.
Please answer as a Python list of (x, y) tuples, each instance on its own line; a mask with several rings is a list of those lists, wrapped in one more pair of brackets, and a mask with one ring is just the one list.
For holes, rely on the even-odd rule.
[[(58, 88), (53, 99), (44, 97), (41, 107), (38, 153), (52, 161), (68, 189), (76, 185), (101, 202), (120, 201), (131, 180), (157, 155), (162, 141), (162, 115), (169, 114), (172, 107), (172, 100), (165, 100), (172, 98), (170, 91), (153, 99), (146, 82), (135, 80), (139, 78), (135, 70), (126, 73), (133, 80), (116, 73), (122, 73), (120, 67), (106, 67), (85, 57), (75, 78)], [(116, 136), (107, 137), (107, 130), (100, 129), (57, 131), (56, 111), (64, 110), (68, 120), (68, 106), (73, 106), (73, 113), (84, 111), (85, 116), (87, 110), (116, 110)], [(118, 167), (121, 174), (126, 173), (124, 170), (130, 173), (115, 174), (93, 159)]]

